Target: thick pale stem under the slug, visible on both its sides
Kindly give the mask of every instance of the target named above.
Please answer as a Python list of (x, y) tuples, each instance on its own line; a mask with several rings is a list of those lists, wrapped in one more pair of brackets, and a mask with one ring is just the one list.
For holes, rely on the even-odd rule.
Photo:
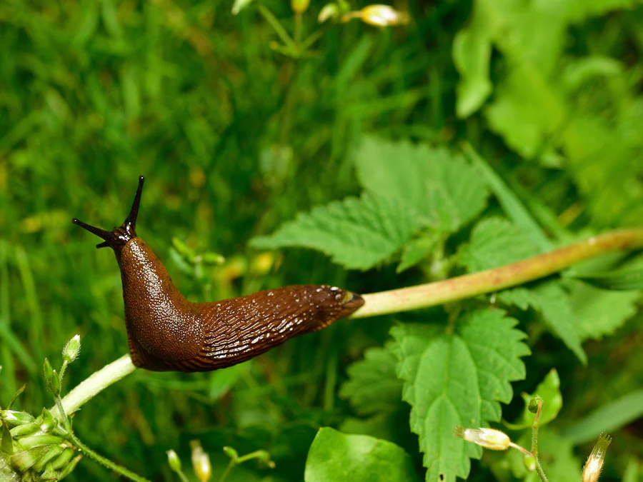
[[(601, 236), (593, 236), (586, 241), (574, 243), (566, 248), (534, 256), (518, 263), (479, 273), (458, 276), (444, 281), (427, 283), (409, 288), (401, 288), (381, 293), (364, 295), (364, 306), (350, 318), (368, 318), (400, 311), (441, 305), (484, 293), (517, 286), (569, 268), (574, 263), (585, 261), (611, 251), (643, 248), (643, 229), (624, 229), (611, 231)], [(129, 355), (121, 356), (99, 371), (93, 373), (79, 386), (69, 392), (62, 400), (66, 413), (74, 413), (97, 393), (116, 383), (136, 370)], [(59, 416), (58, 408), (51, 408), (54, 416)]]

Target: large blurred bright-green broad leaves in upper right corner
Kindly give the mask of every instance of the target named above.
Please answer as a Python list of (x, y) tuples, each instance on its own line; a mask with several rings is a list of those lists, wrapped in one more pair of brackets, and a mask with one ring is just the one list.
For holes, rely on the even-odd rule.
[[(467, 28), (453, 46), (461, 76), (457, 114), (469, 116), (489, 94), (489, 126), (526, 158), (560, 166), (564, 162), (595, 219), (634, 224), (643, 216), (639, 152), (634, 134), (643, 99), (609, 57), (565, 55), (567, 30), (590, 16), (633, 8), (640, 0), (562, 0), (546, 3), (476, 0)], [(497, 84), (489, 74), (491, 51), (502, 66)], [(615, 89), (589, 96), (588, 81), (614, 79)], [(591, 86), (591, 84), (590, 84)], [(609, 99), (609, 100), (608, 100)], [(609, 108), (606, 105), (609, 104)]]

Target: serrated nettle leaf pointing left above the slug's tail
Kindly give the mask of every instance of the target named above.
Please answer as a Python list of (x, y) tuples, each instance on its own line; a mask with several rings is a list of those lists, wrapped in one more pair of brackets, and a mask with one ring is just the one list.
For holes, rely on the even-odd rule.
[(345, 268), (367, 270), (387, 261), (421, 226), (416, 211), (403, 202), (364, 194), (300, 213), (274, 234), (251, 239), (250, 246), (313, 248)]

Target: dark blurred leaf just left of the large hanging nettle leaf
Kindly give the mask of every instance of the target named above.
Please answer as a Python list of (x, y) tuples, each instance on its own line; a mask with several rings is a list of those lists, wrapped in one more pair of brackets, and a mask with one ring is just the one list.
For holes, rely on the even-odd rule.
[(387, 348), (369, 348), (364, 359), (347, 369), (349, 380), (339, 391), (354, 411), (372, 415), (399, 408), (402, 401), (402, 381), (395, 374), (397, 358)]

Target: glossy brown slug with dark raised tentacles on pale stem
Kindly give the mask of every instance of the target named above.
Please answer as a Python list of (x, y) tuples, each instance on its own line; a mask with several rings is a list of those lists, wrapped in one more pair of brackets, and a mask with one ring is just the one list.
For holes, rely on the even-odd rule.
[(210, 371), (268, 351), (293, 336), (326, 328), (364, 304), (329, 285), (296, 285), (211, 303), (179, 293), (163, 263), (136, 236), (144, 177), (125, 222), (112, 231), (72, 222), (104, 239), (121, 268), (125, 326), (134, 365), (154, 371)]

